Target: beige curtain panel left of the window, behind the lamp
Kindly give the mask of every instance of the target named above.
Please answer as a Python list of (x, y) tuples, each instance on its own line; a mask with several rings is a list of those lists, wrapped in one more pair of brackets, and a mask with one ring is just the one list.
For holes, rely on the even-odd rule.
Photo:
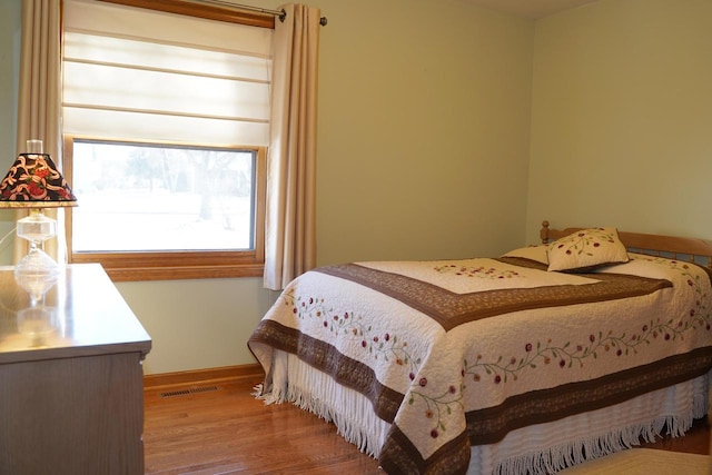
[[(27, 140), (40, 139), (44, 154), (51, 155), (61, 169), (60, 1), (22, 0), (21, 30), (17, 152), (26, 151)], [(46, 209), (44, 212), (57, 219), (56, 210)], [(59, 225), (58, 239), (63, 243), (61, 221)], [(58, 239), (48, 240), (44, 250), (62, 261), (65, 253), (58, 256), (58, 249), (65, 246), (58, 246)], [(27, 241), (16, 239), (16, 261), (26, 254)]]

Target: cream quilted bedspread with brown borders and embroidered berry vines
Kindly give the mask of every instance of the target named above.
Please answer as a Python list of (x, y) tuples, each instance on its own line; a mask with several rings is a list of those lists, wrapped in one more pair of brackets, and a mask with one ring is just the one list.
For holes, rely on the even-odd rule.
[[(503, 257), (329, 266), (295, 279), (248, 346), (358, 390), (390, 423), (387, 473), (465, 473), (469, 446), (712, 367), (704, 269), (634, 255), (589, 274)], [(279, 399), (280, 395), (274, 395)]]

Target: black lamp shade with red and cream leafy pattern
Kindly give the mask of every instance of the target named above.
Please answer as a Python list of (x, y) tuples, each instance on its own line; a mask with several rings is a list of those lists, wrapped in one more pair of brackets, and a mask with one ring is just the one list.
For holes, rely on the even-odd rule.
[(0, 182), (0, 208), (77, 206), (77, 198), (48, 154), (20, 154)]

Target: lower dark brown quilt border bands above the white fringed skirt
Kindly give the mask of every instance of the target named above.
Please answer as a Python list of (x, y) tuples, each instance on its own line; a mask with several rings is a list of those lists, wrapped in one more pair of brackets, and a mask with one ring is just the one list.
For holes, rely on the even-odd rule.
[[(277, 321), (260, 321), (248, 340), (251, 343), (291, 353), (339, 384), (357, 390), (372, 402), (376, 415), (387, 423), (394, 422), (405, 397), (380, 384), (367, 365)], [(710, 368), (712, 347), (703, 347), (595, 379), (510, 396), (498, 406), (466, 413), (469, 443), (493, 444), (516, 428), (619, 404), (701, 376)]]

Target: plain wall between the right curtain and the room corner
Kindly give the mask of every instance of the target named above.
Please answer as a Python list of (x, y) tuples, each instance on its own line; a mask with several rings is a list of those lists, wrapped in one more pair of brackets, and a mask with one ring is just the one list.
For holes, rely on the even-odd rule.
[(318, 259), (497, 254), (524, 234), (533, 22), (318, 0)]

